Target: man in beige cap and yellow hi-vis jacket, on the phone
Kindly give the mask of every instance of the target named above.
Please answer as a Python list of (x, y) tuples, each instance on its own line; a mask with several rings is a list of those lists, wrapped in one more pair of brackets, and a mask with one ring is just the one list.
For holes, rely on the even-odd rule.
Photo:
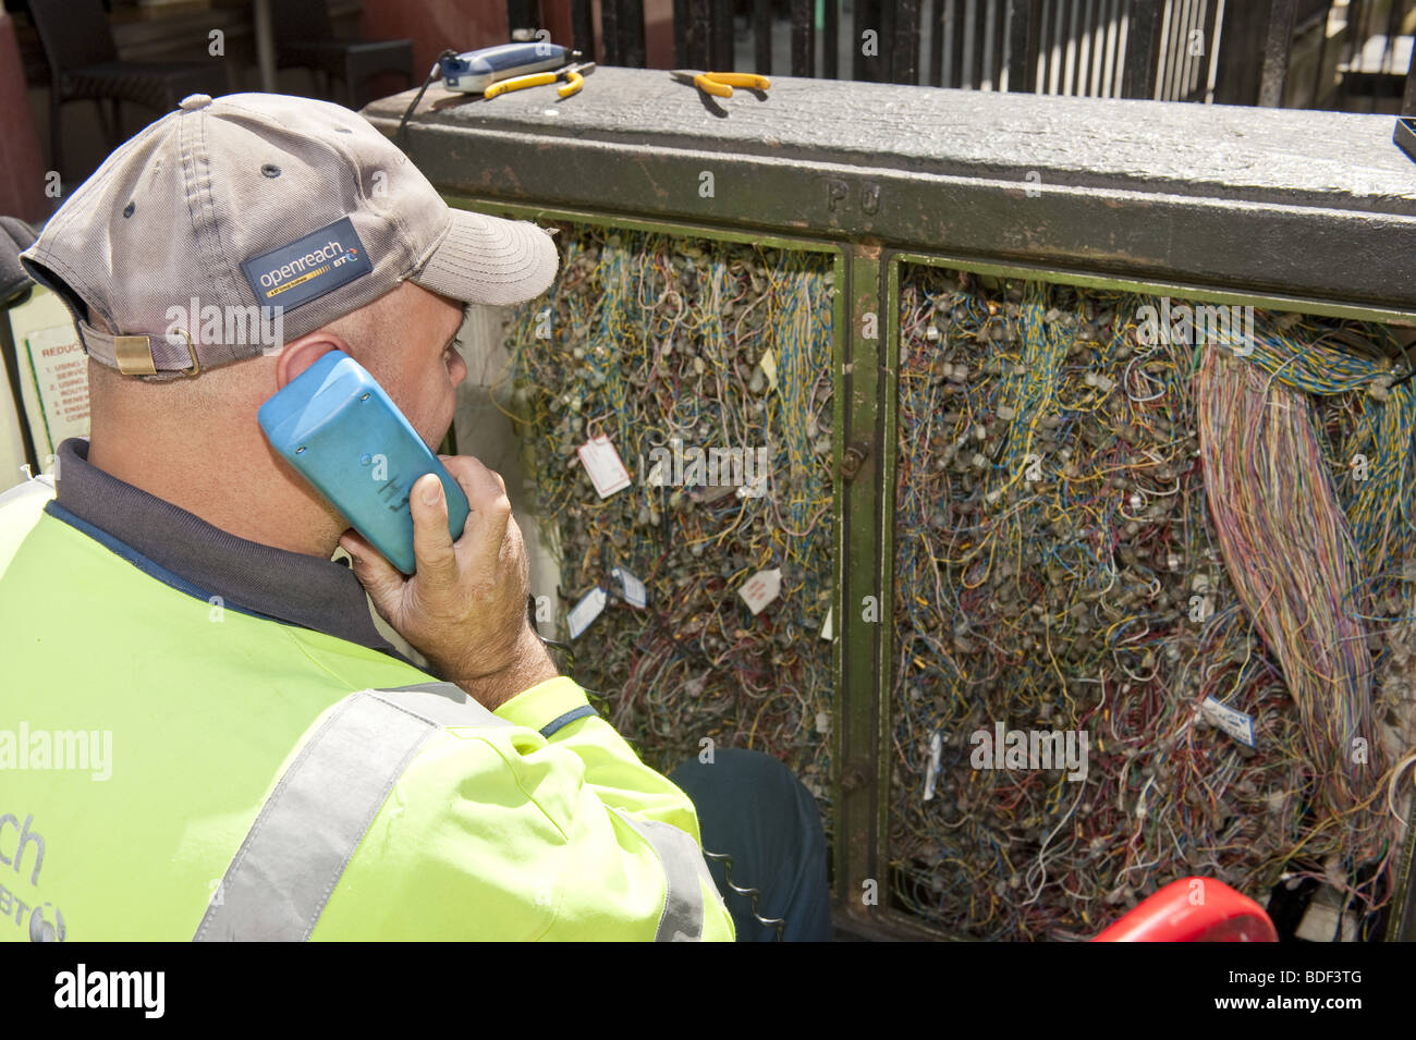
[(450, 209), (346, 109), (198, 95), (21, 260), (74, 313), (92, 423), (57, 494), (0, 498), (0, 937), (733, 938), (692, 802), (531, 628), (501, 478), (443, 457), (456, 542), (413, 485), (405, 579), (256, 424), (340, 349), (436, 446), (463, 306), (542, 293), (548, 235)]

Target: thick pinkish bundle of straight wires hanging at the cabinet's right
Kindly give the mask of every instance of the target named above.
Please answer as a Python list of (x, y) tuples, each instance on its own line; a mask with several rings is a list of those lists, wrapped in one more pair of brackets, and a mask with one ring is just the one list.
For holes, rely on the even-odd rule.
[(1219, 349), (1202, 352), (1197, 391), (1229, 580), (1283, 669), (1303, 730), (1304, 801), (1315, 816), (1307, 845), (1348, 863), (1369, 859), (1381, 818), (1361, 811), (1385, 756), (1374, 740), (1365, 625), (1344, 606), (1359, 584), (1357, 555), (1311, 408), (1301, 391)]

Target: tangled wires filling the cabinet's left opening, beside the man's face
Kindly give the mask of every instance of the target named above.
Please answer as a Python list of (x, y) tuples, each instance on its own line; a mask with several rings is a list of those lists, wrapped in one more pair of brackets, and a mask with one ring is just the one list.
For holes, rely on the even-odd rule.
[[(572, 642), (572, 675), (600, 692), (596, 707), (656, 768), (763, 750), (830, 819), (833, 682), (818, 634), (834, 538), (830, 263), (559, 226), (561, 273), (510, 330), (510, 413), (535, 511), (556, 535), (561, 638), (573, 604), (595, 587), (610, 593)], [(576, 454), (600, 436), (633, 481), (603, 499)], [(657, 460), (735, 449), (745, 461), (765, 449), (756, 488), (721, 473), (716, 487), (675, 484), (694, 480), (687, 463), (656, 483)], [(624, 600), (616, 567), (644, 582), (644, 608)], [(739, 589), (773, 569), (780, 594), (753, 614)]]

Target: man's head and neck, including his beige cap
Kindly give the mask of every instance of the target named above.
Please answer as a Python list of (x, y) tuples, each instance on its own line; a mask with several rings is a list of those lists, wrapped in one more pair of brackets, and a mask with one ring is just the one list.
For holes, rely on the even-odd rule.
[(447, 207), (357, 113), (249, 93), (194, 95), (139, 132), (21, 263), (78, 325), (95, 466), (323, 553), (337, 515), (259, 437), (261, 403), (344, 349), (436, 444), (463, 304), (534, 299), (558, 256), (534, 224)]

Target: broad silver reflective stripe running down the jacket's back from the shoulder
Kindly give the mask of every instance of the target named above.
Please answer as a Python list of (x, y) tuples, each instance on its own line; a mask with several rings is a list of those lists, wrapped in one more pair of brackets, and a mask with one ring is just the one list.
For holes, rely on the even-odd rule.
[(365, 689), (300, 749), (246, 833), (194, 941), (304, 941), (388, 792), (445, 726), (510, 726), (449, 682)]

